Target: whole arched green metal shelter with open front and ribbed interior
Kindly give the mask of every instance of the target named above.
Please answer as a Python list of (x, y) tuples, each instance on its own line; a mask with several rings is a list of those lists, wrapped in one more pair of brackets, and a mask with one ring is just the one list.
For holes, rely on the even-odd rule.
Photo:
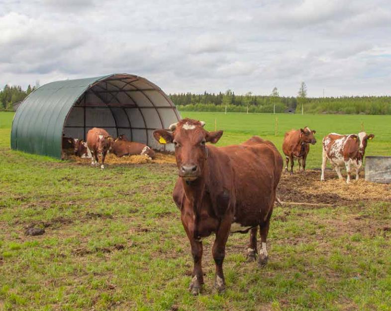
[(156, 150), (157, 128), (181, 119), (173, 102), (146, 78), (113, 74), (47, 83), (29, 94), (12, 122), (11, 148), (31, 154), (62, 157), (62, 137), (86, 139), (93, 127), (112, 137), (125, 134)]

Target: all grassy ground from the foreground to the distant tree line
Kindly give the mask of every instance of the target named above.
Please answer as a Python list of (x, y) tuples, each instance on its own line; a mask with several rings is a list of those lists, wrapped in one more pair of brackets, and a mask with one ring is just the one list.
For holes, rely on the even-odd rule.
[[(247, 234), (229, 237), (221, 296), (212, 288), (209, 237), (204, 292), (193, 297), (190, 246), (171, 199), (175, 165), (102, 171), (13, 152), (12, 116), (0, 113), (0, 310), (391, 310), (390, 201), (276, 207), (265, 268), (245, 262)], [(390, 148), (390, 116), (279, 115), (277, 138), (273, 115), (184, 116), (209, 130), (216, 118), (221, 145), (257, 134), (280, 146), (283, 132), (300, 125), (320, 141), (331, 131), (358, 132), (364, 121), (376, 136), (367, 155)], [(319, 151), (317, 144), (309, 166), (320, 166)], [(24, 235), (31, 225), (45, 233)]]

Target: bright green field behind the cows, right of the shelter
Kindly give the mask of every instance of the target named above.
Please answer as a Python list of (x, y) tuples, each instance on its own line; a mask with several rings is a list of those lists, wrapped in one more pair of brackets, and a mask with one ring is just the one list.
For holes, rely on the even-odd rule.
[[(227, 113), (223, 112), (182, 112), (182, 117), (189, 117), (206, 122), (206, 129), (214, 131), (215, 122), (218, 130), (224, 134), (218, 145), (239, 144), (253, 135), (272, 141), (282, 153), (284, 134), (291, 129), (308, 126), (315, 130), (317, 143), (310, 146), (307, 157), (308, 168), (319, 168), (322, 164), (322, 139), (329, 133), (354, 134), (364, 130), (375, 134), (368, 142), (366, 156), (391, 155), (391, 115), (299, 115), (266, 113)], [(277, 119), (277, 136), (276, 136)], [(296, 163), (297, 165), (297, 163)], [(294, 168), (297, 168), (295, 166)]]

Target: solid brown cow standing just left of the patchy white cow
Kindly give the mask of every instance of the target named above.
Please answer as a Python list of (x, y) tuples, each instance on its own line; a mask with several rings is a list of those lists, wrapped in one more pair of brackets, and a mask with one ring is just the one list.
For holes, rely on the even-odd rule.
[(288, 171), (288, 164), (291, 160), (291, 174), (293, 174), (293, 159), (297, 158), (298, 170), (302, 166), (305, 172), (305, 159), (309, 153), (309, 144), (314, 145), (316, 139), (313, 136), (316, 131), (311, 131), (307, 126), (304, 129), (291, 130), (285, 133), (283, 142), (283, 152), (285, 154), (286, 165), (285, 169)]

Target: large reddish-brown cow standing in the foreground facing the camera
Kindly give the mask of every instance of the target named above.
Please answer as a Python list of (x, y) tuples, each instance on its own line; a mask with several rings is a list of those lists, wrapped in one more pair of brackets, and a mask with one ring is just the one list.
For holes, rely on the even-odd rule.
[(248, 258), (257, 254), (257, 227), (261, 249), (258, 263), (267, 263), (266, 238), (280, 181), (283, 159), (269, 141), (252, 137), (240, 145), (216, 148), (222, 131), (207, 132), (204, 122), (191, 119), (170, 126), (172, 132), (154, 131), (160, 143), (174, 143), (178, 180), (173, 199), (190, 240), (194, 260), (189, 289), (197, 295), (203, 284), (202, 238), (216, 234), (212, 254), (216, 265), (214, 285), (225, 289), (223, 260), (230, 232), (250, 232)]

